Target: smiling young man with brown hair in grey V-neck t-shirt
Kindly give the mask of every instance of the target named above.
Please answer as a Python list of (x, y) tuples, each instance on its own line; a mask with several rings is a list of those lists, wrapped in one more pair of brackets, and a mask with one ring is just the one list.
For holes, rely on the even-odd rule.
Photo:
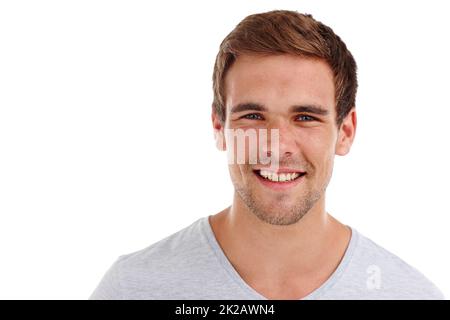
[(120, 256), (90, 299), (443, 298), (325, 210), (334, 156), (355, 137), (357, 89), (356, 63), (329, 27), (293, 11), (248, 16), (220, 46), (213, 88), (218, 147), (234, 149), (226, 130), (258, 140), (278, 130), (276, 149), (258, 150), (276, 167), (248, 152), (232, 162), (230, 207)]

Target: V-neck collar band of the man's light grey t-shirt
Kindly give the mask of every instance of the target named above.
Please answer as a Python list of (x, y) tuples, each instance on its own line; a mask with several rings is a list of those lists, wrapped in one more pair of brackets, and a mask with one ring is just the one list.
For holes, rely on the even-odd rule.
[[(235, 281), (245, 292), (248, 293), (250, 299), (255, 300), (268, 300), (265, 296), (257, 292), (255, 289), (253, 289), (250, 285), (248, 285), (244, 279), (241, 278), (239, 273), (236, 271), (236, 269), (233, 267), (231, 262), (228, 260), (227, 256), (223, 252), (222, 248), (219, 245), (219, 242), (216, 239), (216, 236), (214, 234), (214, 231), (212, 230), (211, 224), (209, 222), (209, 217), (206, 216), (203, 217), (200, 221), (201, 223), (201, 229), (203, 230), (205, 236), (208, 239), (209, 244), (211, 245), (216, 257), (218, 258), (220, 264), (222, 267), (227, 271), (227, 273), (231, 276), (233, 281)], [(334, 270), (334, 272), (330, 275), (330, 277), (325, 280), (322, 285), (320, 285), (317, 289), (313, 290), (311, 293), (306, 295), (305, 297), (299, 299), (299, 300), (312, 300), (312, 299), (318, 299), (321, 295), (323, 295), (325, 292), (327, 292), (335, 283), (336, 281), (342, 276), (345, 269), (348, 266), (348, 263), (350, 262), (352, 255), (355, 251), (356, 244), (358, 242), (359, 234), (358, 231), (352, 227), (349, 226), (349, 228), (352, 231), (350, 241), (347, 245), (347, 249), (345, 250), (344, 256), (342, 257), (339, 265)]]

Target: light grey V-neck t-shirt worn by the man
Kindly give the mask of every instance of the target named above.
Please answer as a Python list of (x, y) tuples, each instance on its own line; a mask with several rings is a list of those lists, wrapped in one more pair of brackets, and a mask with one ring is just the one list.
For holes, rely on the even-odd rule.
[[(444, 299), (418, 270), (354, 228), (332, 275), (303, 299)], [(202, 217), (119, 256), (89, 299), (266, 299), (234, 269)]]

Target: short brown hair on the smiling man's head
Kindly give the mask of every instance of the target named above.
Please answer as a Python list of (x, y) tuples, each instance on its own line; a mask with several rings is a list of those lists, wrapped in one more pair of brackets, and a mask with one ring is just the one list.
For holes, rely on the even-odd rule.
[(225, 75), (242, 54), (293, 54), (325, 60), (333, 71), (336, 123), (355, 106), (356, 62), (333, 30), (310, 14), (273, 10), (242, 20), (220, 44), (213, 72), (214, 110), (225, 121)]

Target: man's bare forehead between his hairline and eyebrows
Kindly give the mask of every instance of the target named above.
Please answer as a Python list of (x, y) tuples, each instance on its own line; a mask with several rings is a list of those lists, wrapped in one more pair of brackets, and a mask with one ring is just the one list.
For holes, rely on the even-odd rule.
[(321, 60), (288, 55), (243, 56), (235, 63), (225, 79), (227, 109), (244, 102), (268, 106), (278, 102), (316, 104), (333, 109), (333, 76)]

